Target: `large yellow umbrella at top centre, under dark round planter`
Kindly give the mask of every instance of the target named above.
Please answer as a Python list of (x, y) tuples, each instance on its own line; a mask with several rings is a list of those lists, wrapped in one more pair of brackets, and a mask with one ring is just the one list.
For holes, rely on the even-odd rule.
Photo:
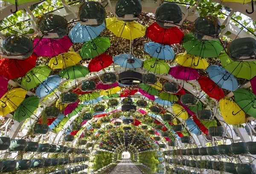
[(106, 19), (106, 27), (116, 36), (133, 40), (145, 36), (146, 27), (136, 21), (125, 22), (116, 17)]

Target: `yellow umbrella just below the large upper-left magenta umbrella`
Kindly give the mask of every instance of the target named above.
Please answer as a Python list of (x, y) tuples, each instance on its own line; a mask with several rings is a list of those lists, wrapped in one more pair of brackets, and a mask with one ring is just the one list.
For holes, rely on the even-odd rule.
[(50, 59), (48, 66), (54, 69), (64, 69), (66, 67), (70, 67), (72, 65), (76, 65), (79, 61), (81, 61), (81, 56), (76, 52), (67, 52), (59, 54), (58, 56)]

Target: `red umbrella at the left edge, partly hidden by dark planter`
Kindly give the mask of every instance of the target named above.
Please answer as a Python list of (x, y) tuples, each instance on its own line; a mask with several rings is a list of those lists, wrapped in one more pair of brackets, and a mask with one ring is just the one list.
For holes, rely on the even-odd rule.
[(25, 76), (26, 73), (35, 67), (35, 62), (38, 59), (34, 53), (26, 59), (0, 59), (0, 76), (6, 79), (15, 79)]

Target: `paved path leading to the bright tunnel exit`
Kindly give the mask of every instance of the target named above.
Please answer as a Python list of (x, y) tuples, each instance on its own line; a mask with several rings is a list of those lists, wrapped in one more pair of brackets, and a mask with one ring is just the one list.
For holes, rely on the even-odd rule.
[(121, 160), (111, 174), (142, 174), (131, 160)]

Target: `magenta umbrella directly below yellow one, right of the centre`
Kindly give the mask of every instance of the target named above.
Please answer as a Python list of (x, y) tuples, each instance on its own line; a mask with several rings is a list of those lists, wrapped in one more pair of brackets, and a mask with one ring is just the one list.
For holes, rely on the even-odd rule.
[(186, 81), (196, 80), (200, 76), (200, 74), (195, 69), (183, 66), (171, 67), (169, 74), (176, 79)]

